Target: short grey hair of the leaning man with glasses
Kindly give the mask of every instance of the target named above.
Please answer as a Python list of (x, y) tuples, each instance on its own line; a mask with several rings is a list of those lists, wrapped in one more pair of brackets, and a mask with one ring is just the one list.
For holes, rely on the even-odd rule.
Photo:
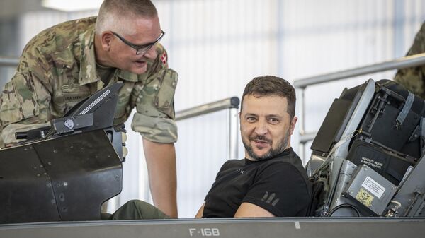
[(140, 16), (152, 18), (157, 14), (150, 0), (104, 0), (96, 20), (96, 34), (112, 30), (131, 35), (134, 29), (125, 27), (126, 20)]

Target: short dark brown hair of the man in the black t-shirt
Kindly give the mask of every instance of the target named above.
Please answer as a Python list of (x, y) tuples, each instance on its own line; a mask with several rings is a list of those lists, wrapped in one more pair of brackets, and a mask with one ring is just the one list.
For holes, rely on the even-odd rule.
[(295, 116), (295, 88), (288, 81), (276, 76), (260, 76), (256, 77), (245, 86), (244, 94), (242, 95), (242, 104), (244, 103), (245, 95), (253, 95), (254, 97), (262, 96), (280, 96), (286, 97), (288, 100), (288, 114), (290, 119)]

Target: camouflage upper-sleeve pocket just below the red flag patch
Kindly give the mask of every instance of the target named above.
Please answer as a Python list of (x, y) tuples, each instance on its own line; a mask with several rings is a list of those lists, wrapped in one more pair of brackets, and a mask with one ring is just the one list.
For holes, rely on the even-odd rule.
[(165, 69), (160, 79), (161, 85), (154, 99), (154, 105), (161, 112), (174, 118), (174, 93), (176, 92), (179, 74), (173, 69)]

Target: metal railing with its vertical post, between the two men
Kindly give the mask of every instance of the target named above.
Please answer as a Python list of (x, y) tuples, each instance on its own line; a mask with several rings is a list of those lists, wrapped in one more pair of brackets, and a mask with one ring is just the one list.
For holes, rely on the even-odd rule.
[(228, 159), (236, 159), (238, 157), (237, 149), (237, 135), (238, 124), (237, 124), (237, 111), (239, 108), (239, 98), (229, 97), (217, 102), (210, 102), (197, 107), (191, 107), (176, 112), (176, 121), (188, 119), (191, 117), (197, 117), (203, 114), (217, 112), (223, 109), (229, 109), (229, 151), (227, 153)]

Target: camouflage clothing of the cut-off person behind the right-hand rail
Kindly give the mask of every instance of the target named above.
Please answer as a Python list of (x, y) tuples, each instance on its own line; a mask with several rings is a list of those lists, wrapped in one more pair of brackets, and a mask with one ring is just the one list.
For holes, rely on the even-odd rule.
[[(410, 47), (406, 56), (424, 52), (425, 22), (422, 24), (419, 32), (417, 32), (412, 47)], [(397, 71), (394, 80), (404, 85), (404, 88), (407, 88), (407, 90), (425, 99), (425, 65), (400, 69)]]

